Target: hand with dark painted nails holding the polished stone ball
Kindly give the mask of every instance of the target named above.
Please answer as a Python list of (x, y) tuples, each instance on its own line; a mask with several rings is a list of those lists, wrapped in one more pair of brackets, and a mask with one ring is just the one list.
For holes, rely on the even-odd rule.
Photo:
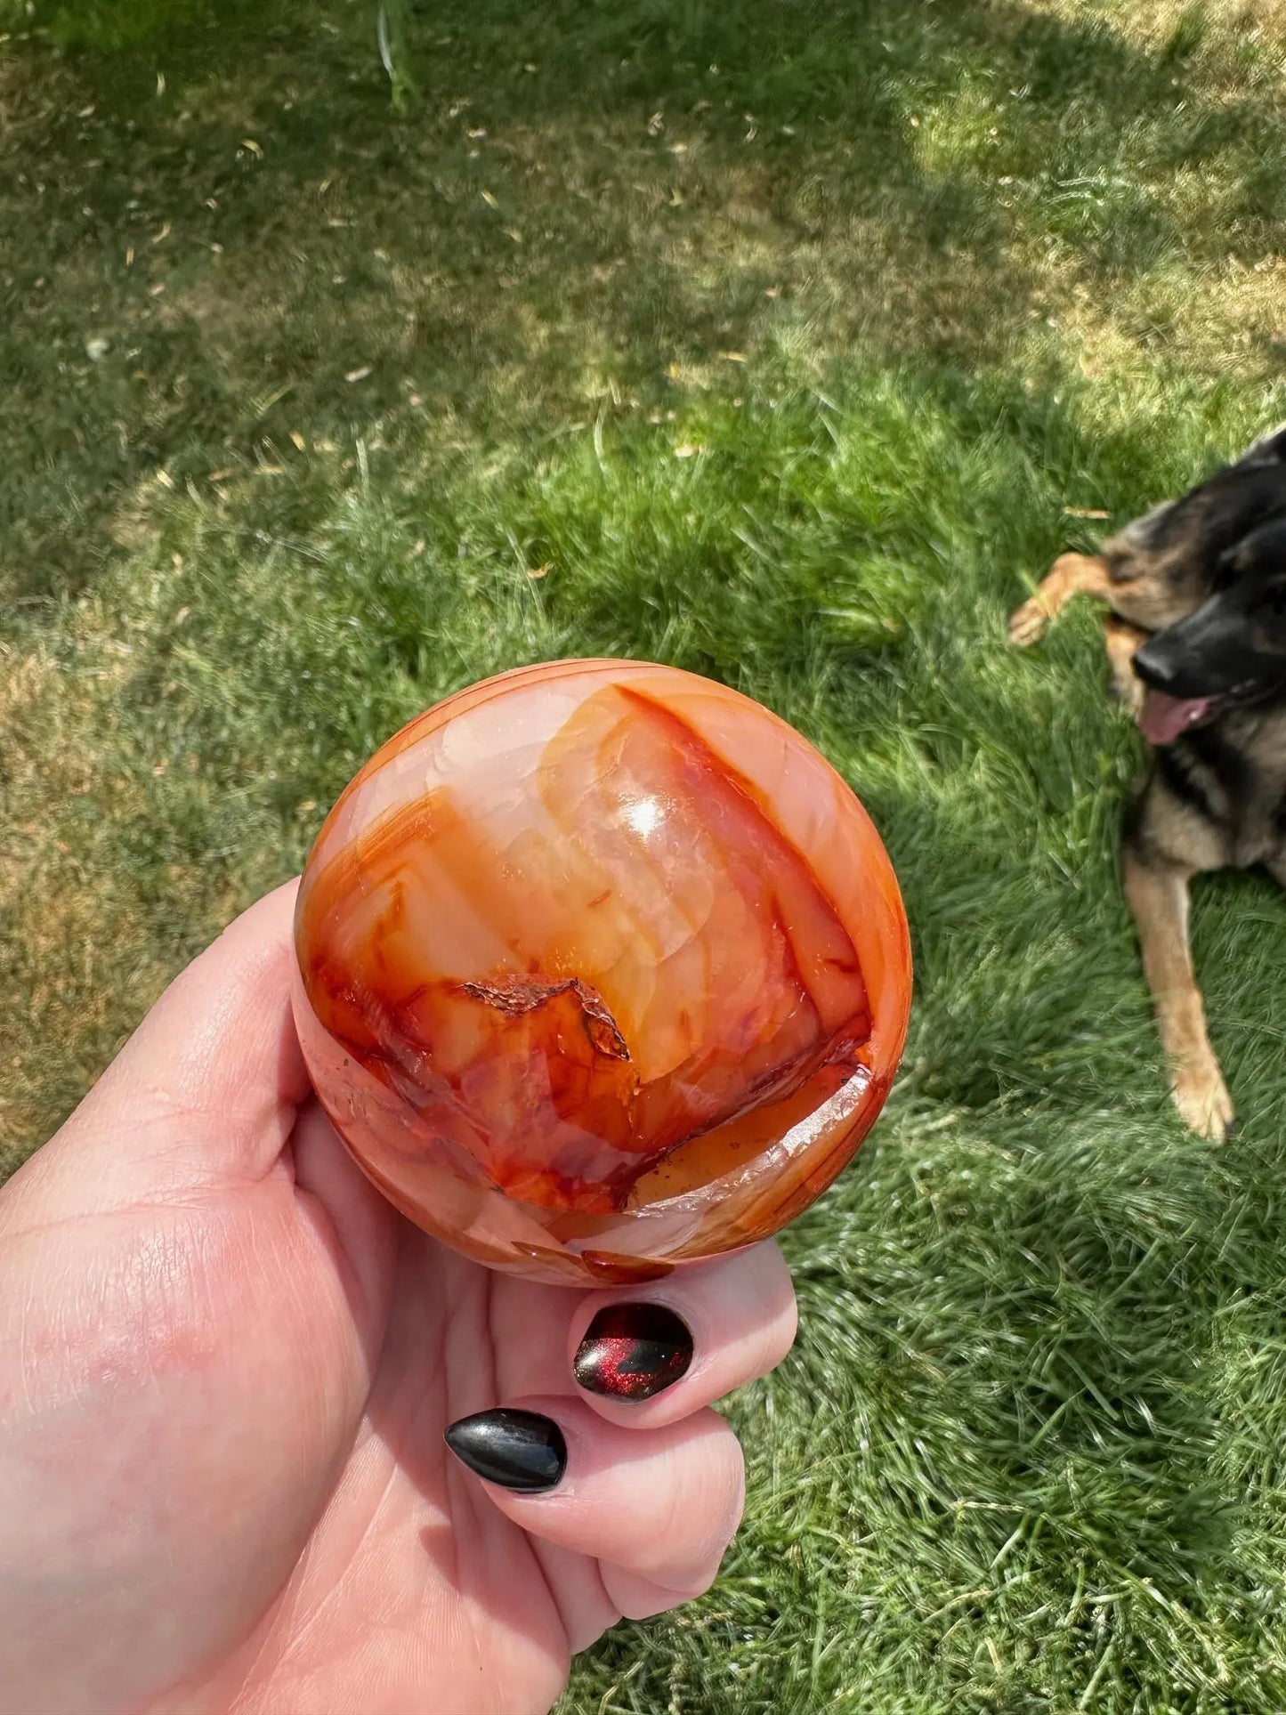
[[(0, 1192), (7, 1710), (535, 1715), (622, 1614), (703, 1592), (736, 1530), (708, 1406), (790, 1346), (777, 1247), (578, 1293), (420, 1233), (310, 1094), (293, 899), (202, 954)], [(631, 1303), (681, 1322), (617, 1309), (581, 1348)], [(622, 1351), (669, 1386), (578, 1386), (629, 1387)], [(538, 1413), (545, 1492), (448, 1451), (496, 1406)], [(521, 1478), (504, 1422), (453, 1439)]]

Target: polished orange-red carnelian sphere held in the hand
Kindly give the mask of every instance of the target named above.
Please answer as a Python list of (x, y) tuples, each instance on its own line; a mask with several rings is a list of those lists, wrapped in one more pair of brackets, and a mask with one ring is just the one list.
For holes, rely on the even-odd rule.
[(350, 1151), (492, 1267), (658, 1278), (806, 1209), (910, 1005), (888, 854), (792, 727), (674, 667), (475, 684), (346, 787), (295, 1015)]

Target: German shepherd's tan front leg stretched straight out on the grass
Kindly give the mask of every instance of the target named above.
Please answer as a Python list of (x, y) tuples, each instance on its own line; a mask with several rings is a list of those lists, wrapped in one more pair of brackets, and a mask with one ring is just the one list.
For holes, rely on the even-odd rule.
[(1144, 976), (1152, 990), (1175, 1106), (1193, 1132), (1223, 1142), (1233, 1103), (1205, 1034), (1205, 1008), (1188, 950), (1188, 882), (1193, 871), (1125, 847), (1125, 897), (1139, 926)]

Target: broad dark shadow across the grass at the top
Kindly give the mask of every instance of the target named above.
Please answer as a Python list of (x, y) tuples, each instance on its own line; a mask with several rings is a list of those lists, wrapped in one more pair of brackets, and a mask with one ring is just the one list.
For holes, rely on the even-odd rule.
[[(1267, 98), (1207, 91), (1187, 38), (1017, 3), (454, 0), (418, 17), (405, 122), (374, 9), (45, 17), (67, 50), (10, 46), (0, 194), (0, 525), (34, 599), (130, 544), (158, 468), (218, 489), (362, 434), (415, 484), (746, 362), (765, 388), (854, 350), (1003, 367), (1048, 307), (1041, 247), (1092, 293), (1168, 254), (1252, 262), (1286, 184)], [(1157, 189), (1243, 156), (1231, 223)], [(267, 506), (307, 527), (319, 501)]]

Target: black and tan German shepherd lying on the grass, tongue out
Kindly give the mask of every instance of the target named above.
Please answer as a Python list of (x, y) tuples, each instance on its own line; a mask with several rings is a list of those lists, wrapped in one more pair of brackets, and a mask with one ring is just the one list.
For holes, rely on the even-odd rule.
[(1097, 554), (1063, 554), (1010, 619), (1025, 648), (1073, 595), (1108, 604), (1116, 695), (1151, 746), (1125, 818), (1125, 897), (1175, 1104), (1233, 1120), (1188, 952), (1188, 882), (1262, 864), (1286, 887), (1286, 425)]

